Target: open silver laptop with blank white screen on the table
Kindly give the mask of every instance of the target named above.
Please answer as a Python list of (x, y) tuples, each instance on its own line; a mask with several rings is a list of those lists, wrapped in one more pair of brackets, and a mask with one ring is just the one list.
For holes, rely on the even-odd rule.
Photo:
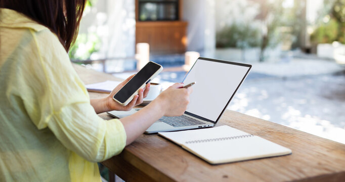
[[(182, 116), (163, 116), (145, 133), (215, 126), (250, 69), (248, 64), (198, 58), (183, 80), (185, 84), (196, 82), (186, 112)], [(111, 111), (108, 114), (122, 118), (137, 111)]]

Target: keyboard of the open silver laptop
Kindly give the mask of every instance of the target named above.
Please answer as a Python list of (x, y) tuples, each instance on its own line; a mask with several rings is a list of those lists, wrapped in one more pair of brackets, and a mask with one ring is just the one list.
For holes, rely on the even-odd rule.
[(192, 126), (192, 125), (198, 125), (198, 124), (205, 124), (201, 121), (198, 121), (193, 118), (189, 118), (187, 116), (173, 116), (173, 117), (161, 117), (159, 121), (164, 122), (166, 124), (169, 124), (174, 127), (181, 127), (181, 126)]

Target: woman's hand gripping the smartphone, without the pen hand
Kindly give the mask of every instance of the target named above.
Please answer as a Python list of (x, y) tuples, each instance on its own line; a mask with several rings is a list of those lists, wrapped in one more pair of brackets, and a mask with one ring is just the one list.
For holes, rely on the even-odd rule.
[(119, 89), (122, 88), (124, 84), (126, 84), (128, 81), (130, 81), (131, 78), (133, 78), (134, 75), (128, 77), (126, 80), (118, 84), (112, 92), (109, 94), (109, 96), (106, 98), (106, 104), (107, 104), (107, 109), (108, 111), (129, 111), (131, 110), (134, 106), (140, 105), (143, 103), (143, 99), (146, 98), (147, 94), (149, 93), (150, 90), (150, 83), (146, 85), (145, 88), (139, 89), (139, 94), (134, 96), (133, 100), (128, 103), (126, 106), (121, 106), (119, 103), (113, 100), (113, 96), (117, 93)]

